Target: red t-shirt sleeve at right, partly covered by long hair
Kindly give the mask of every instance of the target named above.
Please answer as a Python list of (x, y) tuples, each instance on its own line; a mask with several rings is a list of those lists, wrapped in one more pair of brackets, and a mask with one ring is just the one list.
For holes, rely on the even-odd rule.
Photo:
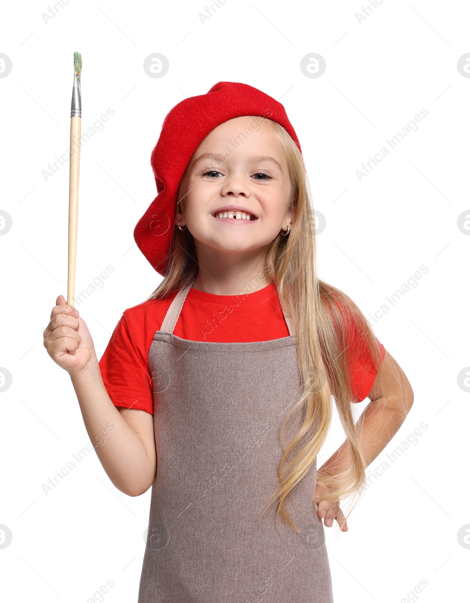
[[(372, 389), (377, 370), (374, 368), (374, 362), (372, 362), (365, 338), (357, 330), (357, 327), (349, 321), (346, 328), (346, 337), (349, 345), (352, 402), (362, 402), (368, 397)], [(386, 350), (380, 341), (377, 338), (375, 339), (380, 348), (380, 358), (383, 360)]]

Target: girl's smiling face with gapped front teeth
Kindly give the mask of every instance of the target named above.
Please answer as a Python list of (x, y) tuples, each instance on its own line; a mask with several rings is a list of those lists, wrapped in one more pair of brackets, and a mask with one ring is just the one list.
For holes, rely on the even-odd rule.
[(190, 159), (182, 188), (177, 223), (187, 225), (196, 251), (260, 250), (292, 224), (287, 160), (269, 119), (243, 116), (214, 128)]

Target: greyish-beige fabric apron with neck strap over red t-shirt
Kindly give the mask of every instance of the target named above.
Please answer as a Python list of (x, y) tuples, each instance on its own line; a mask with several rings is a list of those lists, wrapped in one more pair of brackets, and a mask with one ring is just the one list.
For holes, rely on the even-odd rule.
[(172, 333), (191, 286), (148, 354), (158, 461), (138, 601), (331, 603), (316, 462), (286, 505), (301, 533), (281, 519), (278, 532), (275, 504), (260, 519), (278, 485), (280, 426), (300, 392), (295, 340), (180, 339)]

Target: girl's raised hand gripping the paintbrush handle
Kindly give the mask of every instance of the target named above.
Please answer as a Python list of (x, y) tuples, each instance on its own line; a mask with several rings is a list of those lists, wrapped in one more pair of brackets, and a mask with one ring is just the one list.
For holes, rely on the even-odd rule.
[(51, 321), (44, 330), (44, 347), (54, 362), (67, 373), (80, 374), (98, 364), (95, 346), (88, 327), (78, 310), (67, 305), (63, 295), (57, 297)]

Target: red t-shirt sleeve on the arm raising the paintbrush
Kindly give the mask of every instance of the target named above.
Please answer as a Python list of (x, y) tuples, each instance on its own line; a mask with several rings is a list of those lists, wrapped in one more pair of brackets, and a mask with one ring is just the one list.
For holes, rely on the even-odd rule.
[[(127, 311), (117, 323), (99, 361), (108, 396), (115, 406), (153, 414), (151, 377), (142, 330), (130, 330)], [(132, 333), (132, 335), (131, 335)]]

